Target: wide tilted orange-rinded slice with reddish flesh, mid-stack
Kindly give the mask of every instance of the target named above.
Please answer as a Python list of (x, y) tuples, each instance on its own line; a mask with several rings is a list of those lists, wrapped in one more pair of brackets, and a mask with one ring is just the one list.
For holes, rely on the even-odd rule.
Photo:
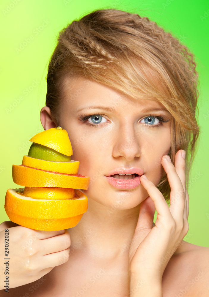
[(25, 165), (12, 165), (12, 178), (15, 184), (24, 187), (59, 187), (86, 190), (90, 183), (89, 176), (50, 172)]

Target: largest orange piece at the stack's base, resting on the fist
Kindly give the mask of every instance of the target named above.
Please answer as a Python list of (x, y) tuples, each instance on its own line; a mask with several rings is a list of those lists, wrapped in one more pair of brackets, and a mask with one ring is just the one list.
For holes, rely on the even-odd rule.
[(24, 188), (8, 189), (5, 211), (16, 224), (35, 230), (56, 231), (78, 224), (88, 208), (88, 199), (75, 189), (77, 197), (65, 200), (33, 199), (23, 196)]

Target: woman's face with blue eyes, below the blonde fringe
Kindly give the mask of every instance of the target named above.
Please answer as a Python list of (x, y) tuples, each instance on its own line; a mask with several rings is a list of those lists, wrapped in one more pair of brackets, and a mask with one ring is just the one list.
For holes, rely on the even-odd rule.
[(59, 125), (68, 132), (71, 159), (80, 162), (78, 174), (91, 178), (88, 190), (81, 191), (108, 207), (137, 206), (149, 196), (142, 184), (127, 188), (117, 180), (115, 187), (107, 176), (119, 168), (141, 169), (157, 186), (164, 172), (161, 158), (171, 146), (170, 113), (157, 101), (133, 100), (84, 78), (66, 81), (64, 94)]

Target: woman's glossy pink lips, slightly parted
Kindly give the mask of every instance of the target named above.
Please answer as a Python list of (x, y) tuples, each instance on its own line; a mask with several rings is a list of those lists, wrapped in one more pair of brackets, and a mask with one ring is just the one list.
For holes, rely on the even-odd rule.
[[(111, 175), (121, 173), (121, 174), (138, 174), (139, 176), (136, 176), (135, 178), (132, 179), (122, 179), (122, 178), (114, 178)], [(109, 173), (109, 176), (106, 176), (107, 181), (109, 184), (111, 184), (115, 188), (119, 189), (134, 189), (138, 187), (141, 182), (140, 182), (140, 176), (142, 176), (143, 170), (141, 168), (118, 168), (113, 170), (112, 172)]]

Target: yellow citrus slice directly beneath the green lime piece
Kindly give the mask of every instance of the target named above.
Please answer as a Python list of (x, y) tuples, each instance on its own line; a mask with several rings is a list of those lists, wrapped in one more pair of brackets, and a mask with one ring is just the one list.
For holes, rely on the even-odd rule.
[(22, 165), (26, 165), (32, 168), (68, 174), (77, 174), (79, 163), (79, 161), (73, 160), (69, 162), (45, 161), (41, 159), (32, 158), (26, 155), (23, 156), (22, 161)]

